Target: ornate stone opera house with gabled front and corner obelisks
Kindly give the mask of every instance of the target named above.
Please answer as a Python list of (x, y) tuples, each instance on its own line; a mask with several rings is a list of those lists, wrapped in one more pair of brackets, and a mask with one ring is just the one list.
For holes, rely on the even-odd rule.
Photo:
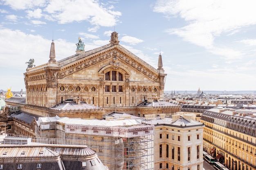
[[(55, 59), (52, 42), (49, 58), (47, 63), (27, 68), (24, 73), (28, 113), (38, 114), (43, 110), (44, 116), (55, 114), (73, 118), (91, 114), (79, 111), (70, 116), (49, 110), (66, 100), (76, 100), (78, 104), (86, 102), (103, 109), (105, 114), (122, 111), (142, 116), (180, 110), (177, 106), (138, 107), (145, 101), (164, 97), (166, 74), (162, 56), (159, 55), (158, 68), (153, 68), (119, 45), (116, 32), (112, 33), (110, 44), (89, 51), (77, 50), (76, 54), (60, 61)], [(99, 119), (99, 116), (84, 117)]]

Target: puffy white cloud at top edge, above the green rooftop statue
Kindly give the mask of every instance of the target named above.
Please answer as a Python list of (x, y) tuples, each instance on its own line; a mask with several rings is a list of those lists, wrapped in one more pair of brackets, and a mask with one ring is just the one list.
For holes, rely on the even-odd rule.
[(88, 21), (96, 26), (113, 26), (117, 23), (118, 11), (104, 7), (94, 0), (55, 0), (51, 1), (44, 11), (52, 14), (60, 24)]

